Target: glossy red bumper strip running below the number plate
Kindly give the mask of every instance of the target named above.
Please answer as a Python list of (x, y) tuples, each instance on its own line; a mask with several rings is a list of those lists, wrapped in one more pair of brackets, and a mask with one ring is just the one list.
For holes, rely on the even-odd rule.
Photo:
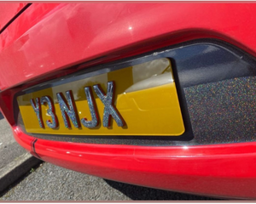
[[(14, 128), (30, 150), (32, 137)], [(102, 178), (163, 190), (255, 198), (256, 143), (150, 147), (72, 144), (38, 139), (44, 161)], [(32, 152), (33, 154), (33, 152)]]

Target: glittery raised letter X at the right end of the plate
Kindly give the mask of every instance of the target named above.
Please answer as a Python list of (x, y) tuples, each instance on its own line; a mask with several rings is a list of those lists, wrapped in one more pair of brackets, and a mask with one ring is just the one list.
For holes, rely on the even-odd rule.
[(98, 84), (94, 85), (93, 88), (95, 93), (102, 100), (102, 103), (105, 106), (103, 113), (103, 127), (110, 126), (110, 116), (113, 117), (119, 127), (124, 126), (125, 122), (122, 116), (113, 105), (114, 83), (108, 82), (107, 95), (103, 93), (102, 89), (99, 87)]

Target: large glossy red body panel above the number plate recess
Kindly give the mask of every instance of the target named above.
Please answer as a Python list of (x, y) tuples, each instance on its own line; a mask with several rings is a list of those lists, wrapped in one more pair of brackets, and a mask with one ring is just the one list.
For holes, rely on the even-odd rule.
[(0, 89), (201, 37), (256, 55), (255, 10), (255, 3), (34, 3), (0, 35)]

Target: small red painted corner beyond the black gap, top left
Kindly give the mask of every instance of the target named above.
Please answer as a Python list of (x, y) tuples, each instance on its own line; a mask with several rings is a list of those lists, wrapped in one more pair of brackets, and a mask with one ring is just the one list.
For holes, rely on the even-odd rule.
[(0, 3), (0, 31), (27, 3)]

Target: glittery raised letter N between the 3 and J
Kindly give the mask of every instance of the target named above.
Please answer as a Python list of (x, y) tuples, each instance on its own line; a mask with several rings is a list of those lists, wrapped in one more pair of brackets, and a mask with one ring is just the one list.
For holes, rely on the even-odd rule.
[(77, 113), (76, 113), (76, 109), (75, 109), (75, 103), (73, 100), (72, 91), (67, 91), (66, 95), (67, 95), (67, 103), (64, 99), (63, 94), (57, 93), (57, 99), (60, 104), (61, 115), (63, 117), (65, 127), (67, 127), (67, 128), (71, 127), (67, 116), (69, 116), (69, 118), (73, 122), (74, 127), (80, 127), (79, 120), (77, 119)]

